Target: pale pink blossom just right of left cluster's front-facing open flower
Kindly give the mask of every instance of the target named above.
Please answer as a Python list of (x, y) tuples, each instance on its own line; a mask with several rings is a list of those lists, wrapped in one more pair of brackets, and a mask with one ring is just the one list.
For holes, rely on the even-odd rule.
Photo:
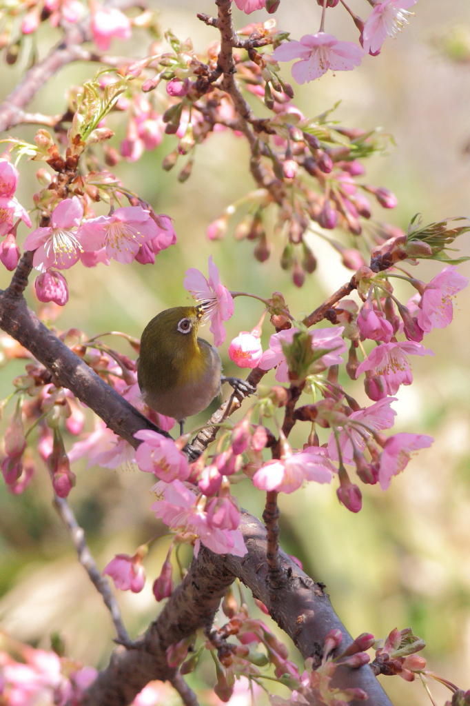
[(103, 247), (109, 258), (131, 263), (140, 246), (161, 235), (150, 211), (142, 206), (116, 208), (109, 216), (85, 220), (78, 231), (85, 251), (100, 251)]

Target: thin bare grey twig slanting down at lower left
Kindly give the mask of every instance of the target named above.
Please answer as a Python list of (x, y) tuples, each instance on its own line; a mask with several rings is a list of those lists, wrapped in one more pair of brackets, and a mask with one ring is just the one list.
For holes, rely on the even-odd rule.
[(56, 508), (57, 513), (59, 513), (61, 520), (64, 522), (64, 525), (66, 525), (68, 532), (70, 533), (73, 546), (77, 552), (78, 561), (80, 561), (80, 564), (88, 573), (92, 584), (101, 595), (104, 605), (111, 614), (119, 642), (121, 645), (131, 645), (131, 638), (129, 638), (127, 630), (123, 625), (119, 606), (114, 598), (114, 595), (112, 594), (112, 590), (109, 587), (109, 582), (100, 574), (100, 571), (96, 566), (95, 559), (92, 557), (88, 544), (86, 543), (83, 527), (80, 527), (78, 524), (76, 517), (73, 514), (73, 510), (68, 504), (66, 498), (59, 498), (59, 496), (54, 494), (54, 508)]

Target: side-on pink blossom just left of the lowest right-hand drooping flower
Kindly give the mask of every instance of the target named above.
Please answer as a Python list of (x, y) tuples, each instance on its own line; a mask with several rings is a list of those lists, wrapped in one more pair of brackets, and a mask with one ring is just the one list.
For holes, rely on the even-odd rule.
[[(344, 425), (337, 426), (339, 431), (338, 443), (341, 449), (344, 463), (351, 463), (353, 460), (353, 450), (363, 449), (366, 440), (372, 436), (373, 431), (390, 429), (394, 424), (394, 416), (397, 412), (390, 407), (392, 402), (396, 402), (397, 397), (386, 397), (384, 400), (375, 402), (366, 409), (358, 409), (357, 412), (349, 414)], [(328, 455), (332, 460), (338, 460), (338, 447), (335, 434), (332, 432), (328, 441)]]

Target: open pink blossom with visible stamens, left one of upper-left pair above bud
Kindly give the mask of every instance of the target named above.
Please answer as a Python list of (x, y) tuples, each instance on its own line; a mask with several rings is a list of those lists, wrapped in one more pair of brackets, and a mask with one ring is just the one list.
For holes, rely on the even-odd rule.
[(49, 268), (66, 270), (75, 265), (83, 251), (77, 227), (83, 217), (83, 205), (77, 196), (66, 198), (52, 211), (47, 228), (36, 228), (25, 240), (24, 249), (34, 250), (32, 265), (40, 272)]

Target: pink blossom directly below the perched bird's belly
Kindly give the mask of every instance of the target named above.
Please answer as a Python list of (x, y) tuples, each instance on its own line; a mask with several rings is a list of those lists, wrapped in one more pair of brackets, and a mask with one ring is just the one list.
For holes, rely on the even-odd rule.
[(150, 429), (140, 429), (134, 436), (142, 441), (135, 451), (135, 460), (141, 471), (153, 473), (167, 483), (176, 478), (181, 481), (188, 478), (188, 459), (173, 439)]

